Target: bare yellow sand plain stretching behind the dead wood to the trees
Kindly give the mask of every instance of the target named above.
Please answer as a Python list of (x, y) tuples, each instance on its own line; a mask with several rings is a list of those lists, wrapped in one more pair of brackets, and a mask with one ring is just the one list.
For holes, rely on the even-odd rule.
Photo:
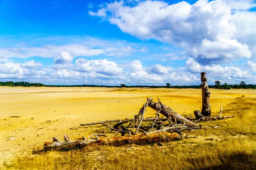
[[(256, 94), (241, 89), (210, 92), (213, 115), (221, 106), (225, 115), (236, 97)], [(70, 130), (81, 123), (132, 118), (147, 96), (154, 101), (159, 97), (181, 115), (201, 110), (201, 89), (0, 87), (0, 164), (29, 155), (52, 137), (62, 140), (64, 134), (76, 138), (94, 133), (92, 128)], [(148, 108), (145, 117), (154, 112)]]

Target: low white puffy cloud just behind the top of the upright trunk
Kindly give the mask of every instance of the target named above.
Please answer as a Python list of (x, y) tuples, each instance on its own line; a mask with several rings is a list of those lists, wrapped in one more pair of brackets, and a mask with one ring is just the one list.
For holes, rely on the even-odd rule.
[(189, 58), (186, 61), (186, 69), (192, 73), (207, 72), (211, 77), (221, 79), (245, 79), (252, 77), (249, 71), (243, 71), (241, 68), (229, 66), (222, 67), (220, 65), (200, 65), (194, 59)]

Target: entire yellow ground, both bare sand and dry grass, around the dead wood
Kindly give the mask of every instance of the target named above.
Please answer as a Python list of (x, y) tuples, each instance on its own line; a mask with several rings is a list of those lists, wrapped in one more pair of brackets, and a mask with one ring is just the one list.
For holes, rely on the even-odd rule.
[[(164, 147), (96, 147), (82, 151), (31, 155), (52, 137), (87, 136), (94, 128), (81, 123), (125, 119), (137, 114), (146, 96), (161, 101), (180, 114), (201, 108), (200, 89), (139, 88), (9, 88), (1, 87), (0, 161), (6, 169), (255, 169), (256, 102), (253, 90), (213, 90), (211, 106), (222, 127), (195, 130), (196, 139)], [(236, 97), (246, 97), (235, 100)], [(147, 116), (154, 111), (148, 108)], [(9, 118), (9, 116), (21, 116)], [(34, 119), (30, 119), (34, 118)], [(4, 120), (6, 119), (6, 120)], [(50, 122), (46, 122), (50, 120)], [(204, 125), (214, 125), (204, 123)], [(238, 136), (239, 135), (239, 136)], [(6, 141), (14, 136), (16, 139)], [(204, 139), (213, 138), (212, 141)]]

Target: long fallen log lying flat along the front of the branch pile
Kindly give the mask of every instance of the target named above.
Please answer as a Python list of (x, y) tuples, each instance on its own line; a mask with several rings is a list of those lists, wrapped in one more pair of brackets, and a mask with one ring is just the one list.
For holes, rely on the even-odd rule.
[(179, 138), (178, 133), (170, 132), (160, 132), (160, 133), (150, 133), (148, 135), (134, 135), (134, 136), (122, 136), (122, 137), (102, 137), (98, 139), (90, 140), (71, 140), (65, 139), (64, 141), (45, 142), (44, 151), (48, 150), (73, 150), (77, 148), (83, 148), (90, 145), (108, 145), (108, 146), (122, 146), (126, 144), (154, 144), (157, 142), (169, 142)]

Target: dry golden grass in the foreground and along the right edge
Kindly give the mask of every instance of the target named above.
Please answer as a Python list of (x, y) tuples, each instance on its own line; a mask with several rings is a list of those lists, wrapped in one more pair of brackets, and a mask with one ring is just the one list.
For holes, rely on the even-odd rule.
[[(221, 127), (195, 130), (195, 139), (171, 142), (163, 147), (90, 147), (68, 152), (47, 152), (34, 158), (15, 159), (8, 169), (111, 169), (111, 170), (253, 170), (256, 168), (256, 100), (234, 100), (225, 111), (235, 118), (218, 122)], [(207, 127), (208, 126), (208, 127)], [(204, 139), (213, 138), (212, 141)]]

